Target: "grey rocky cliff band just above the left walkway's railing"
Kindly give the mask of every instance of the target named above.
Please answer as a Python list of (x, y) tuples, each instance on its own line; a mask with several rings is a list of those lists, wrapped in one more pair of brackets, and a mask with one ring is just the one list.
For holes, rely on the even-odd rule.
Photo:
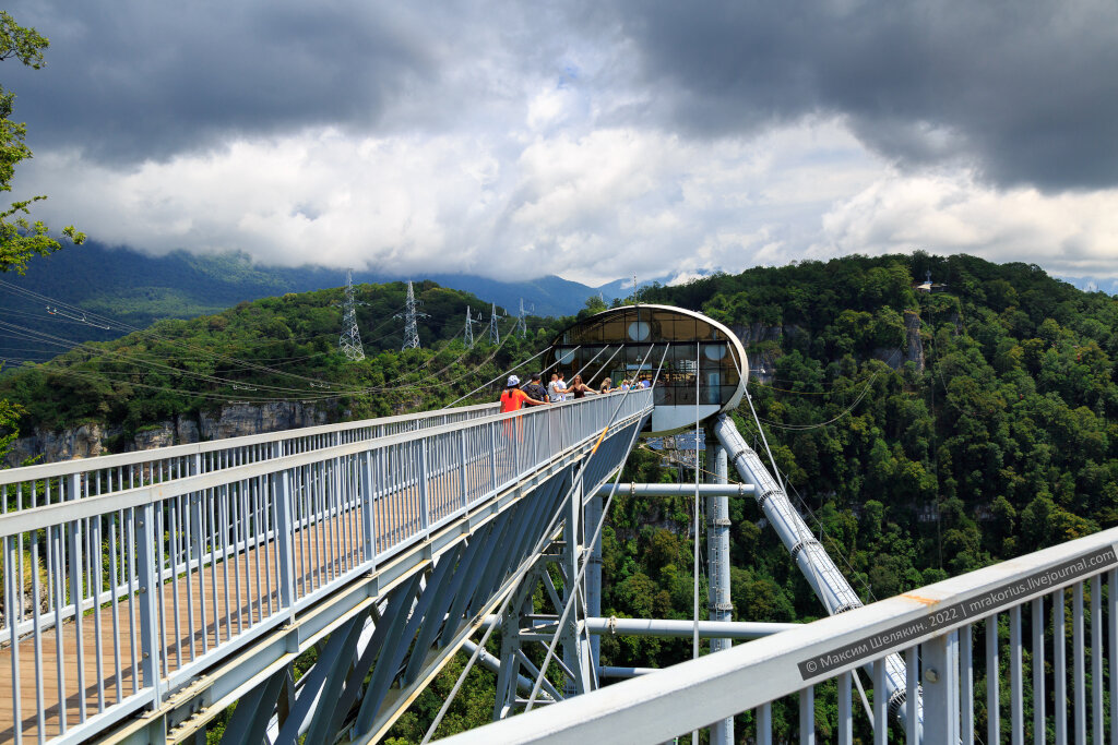
[(110, 442), (115, 451), (151, 450), (171, 445), (188, 445), (202, 440), (220, 440), (246, 434), (278, 432), (286, 429), (325, 424), (325, 409), (297, 401), (265, 404), (231, 403), (218, 411), (176, 417), (158, 422), (135, 433), (123, 445), (120, 428), (102, 424), (82, 424), (60, 432), (36, 430), (29, 437), (21, 437), (4, 459), (4, 465), (15, 467), (28, 458), (40, 456), (37, 462), (50, 464), (75, 458), (94, 458), (110, 452)]

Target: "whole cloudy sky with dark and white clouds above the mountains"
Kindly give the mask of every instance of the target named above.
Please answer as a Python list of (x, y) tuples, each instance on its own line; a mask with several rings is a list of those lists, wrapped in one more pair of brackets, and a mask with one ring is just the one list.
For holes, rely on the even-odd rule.
[(1114, 0), (27, 0), (16, 192), (160, 254), (599, 284), (923, 248), (1118, 277)]

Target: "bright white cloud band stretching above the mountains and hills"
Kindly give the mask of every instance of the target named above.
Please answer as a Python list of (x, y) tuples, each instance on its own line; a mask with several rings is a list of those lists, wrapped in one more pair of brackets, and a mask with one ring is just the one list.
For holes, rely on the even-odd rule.
[(53, 225), (111, 245), (402, 275), (599, 284), (916, 247), (1118, 274), (1118, 193), (903, 175), (837, 120), (705, 142), (588, 122), (500, 135), (324, 127), (132, 170), (42, 153), (21, 172), (25, 191), (50, 193), (39, 211)]

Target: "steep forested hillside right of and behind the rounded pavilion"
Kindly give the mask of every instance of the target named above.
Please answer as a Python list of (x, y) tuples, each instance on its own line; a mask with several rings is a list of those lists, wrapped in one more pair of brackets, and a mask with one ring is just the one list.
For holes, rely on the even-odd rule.
[[(942, 292), (913, 290), (928, 271)], [(755, 373), (759, 359), (770, 369), (749, 390), (808, 524), (868, 601), (1118, 524), (1111, 296), (1035, 266), (918, 252), (751, 269), (642, 302), (779, 329), (750, 346)], [(904, 345), (913, 311), (925, 367), (891, 369), (874, 357)], [(761, 448), (745, 402), (739, 414)], [(606, 612), (690, 618), (688, 510), (619, 500)], [(736, 617), (817, 617), (756, 505), (731, 500), (731, 515)], [(605, 639), (603, 649), (609, 663), (648, 665), (683, 659), (689, 644)]]

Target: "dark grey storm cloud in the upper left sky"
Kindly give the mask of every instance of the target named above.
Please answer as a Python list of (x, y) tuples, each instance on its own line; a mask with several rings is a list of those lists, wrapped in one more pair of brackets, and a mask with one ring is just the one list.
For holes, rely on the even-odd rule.
[[(437, 74), (406, 10), (340, 2), (28, 2), (47, 67), (4, 63), (32, 147), (163, 159), (238, 135), (363, 126)], [(394, 8), (394, 6), (386, 6)]]

